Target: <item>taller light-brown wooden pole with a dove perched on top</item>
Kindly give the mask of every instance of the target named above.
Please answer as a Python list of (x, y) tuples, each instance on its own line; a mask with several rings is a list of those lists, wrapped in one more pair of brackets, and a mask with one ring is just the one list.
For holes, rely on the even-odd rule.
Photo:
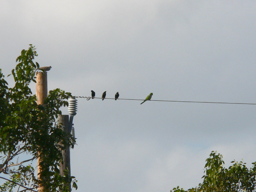
[[(46, 72), (39, 72), (37, 75), (37, 84), (36, 84), (36, 94), (37, 94), (37, 104), (43, 105), (44, 100), (47, 97), (47, 73)], [(40, 154), (40, 151), (38, 151)], [(40, 159), (37, 159), (37, 170), (38, 174), (41, 172), (41, 166), (39, 165)], [(41, 180), (41, 176), (38, 175), (38, 179)], [(40, 192), (47, 191), (43, 186), (39, 188)]]

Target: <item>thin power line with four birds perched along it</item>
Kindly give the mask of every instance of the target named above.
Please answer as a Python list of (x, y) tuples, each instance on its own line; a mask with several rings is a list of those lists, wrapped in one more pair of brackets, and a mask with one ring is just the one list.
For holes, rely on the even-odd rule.
[[(91, 97), (74, 96), (75, 98), (85, 98), (87, 101)], [(100, 97), (95, 97), (94, 99), (102, 99)], [(115, 99), (115, 98), (105, 98), (105, 99)], [(144, 99), (118, 99), (118, 100), (135, 100), (144, 101)], [(173, 100), (150, 100), (150, 101), (162, 101), (162, 102), (182, 102), (182, 103), (219, 103), (219, 104), (240, 104), (240, 105), (256, 105), (256, 103), (230, 103), (230, 102), (208, 102), (208, 101), (173, 101)]]

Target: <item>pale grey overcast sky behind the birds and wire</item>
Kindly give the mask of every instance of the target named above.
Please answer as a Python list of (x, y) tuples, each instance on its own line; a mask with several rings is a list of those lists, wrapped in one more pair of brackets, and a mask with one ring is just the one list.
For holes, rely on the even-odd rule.
[[(2, 0), (0, 68), (7, 77), (33, 44), (35, 61), (52, 66), (48, 91), (256, 103), (255, 9), (255, 1)], [(77, 100), (78, 192), (196, 187), (212, 150), (227, 167), (256, 161), (256, 105)]]

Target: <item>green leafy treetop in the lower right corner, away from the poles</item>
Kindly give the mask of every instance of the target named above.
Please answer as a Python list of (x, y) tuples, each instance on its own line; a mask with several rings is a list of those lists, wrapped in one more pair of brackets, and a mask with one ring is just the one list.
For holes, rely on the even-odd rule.
[(183, 188), (173, 188), (171, 192), (255, 192), (256, 162), (248, 169), (242, 161), (232, 161), (228, 169), (224, 168), (222, 155), (212, 151), (206, 159), (203, 182), (198, 187), (185, 191)]

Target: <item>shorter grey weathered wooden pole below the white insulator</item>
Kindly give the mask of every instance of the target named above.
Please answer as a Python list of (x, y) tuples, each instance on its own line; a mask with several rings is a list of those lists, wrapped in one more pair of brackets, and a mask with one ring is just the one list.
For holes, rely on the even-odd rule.
[[(58, 115), (58, 127), (65, 133), (69, 133), (69, 115)], [(63, 146), (63, 145), (61, 145)], [(70, 174), (70, 148), (67, 146), (65, 149), (61, 150), (63, 162), (60, 162), (60, 175), (65, 175), (64, 170), (68, 170), (69, 177)], [(71, 182), (66, 183), (71, 192)]]

